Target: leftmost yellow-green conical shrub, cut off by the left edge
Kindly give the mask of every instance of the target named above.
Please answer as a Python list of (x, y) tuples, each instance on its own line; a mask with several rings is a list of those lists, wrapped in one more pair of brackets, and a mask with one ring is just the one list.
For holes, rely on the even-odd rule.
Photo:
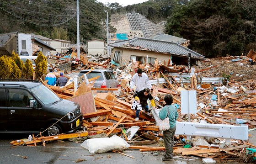
[(0, 57), (0, 79), (8, 79), (12, 72), (12, 65), (6, 55)]

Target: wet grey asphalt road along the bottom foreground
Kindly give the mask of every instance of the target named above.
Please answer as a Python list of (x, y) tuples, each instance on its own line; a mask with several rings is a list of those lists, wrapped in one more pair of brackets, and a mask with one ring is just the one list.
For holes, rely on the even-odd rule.
[[(256, 130), (249, 132), (249, 142), (256, 145)], [(11, 148), (10, 142), (16, 139), (27, 138), (28, 135), (0, 135), (0, 164), (72, 164), (75, 160), (86, 159), (80, 164), (201, 164), (202, 159), (180, 159), (163, 162), (161, 154), (139, 152), (139, 150), (125, 150), (123, 153), (133, 156), (134, 159), (119, 153), (90, 154), (82, 148), (80, 143), (69, 141), (46, 143), (46, 147), (18, 146)], [(21, 156), (27, 157), (23, 159)], [(188, 157), (189, 158), (189, 157)], [(219, 163), (219, 162), (218, 162)], [(222, 162), (223, 163), (223, 162)], [(225, 162), (236, 164), (235, 161)], [(239, 164), (239, 162), (237, 162)]]

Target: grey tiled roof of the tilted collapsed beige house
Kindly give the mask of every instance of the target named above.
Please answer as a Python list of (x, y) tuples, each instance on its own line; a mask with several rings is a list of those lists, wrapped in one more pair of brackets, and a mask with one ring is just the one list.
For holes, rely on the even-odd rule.
[(188, 57), (188, 53), (191, 53), (191, 58), (204, 58), (203, 55), (192, 51), (191, 49), (185, 48), (175, 42), (166, 42), (155, 39), (139, 38), (124, 40), (110, 44), (112, 47), (117, 48), (132, 48), (140, 50), (150, 50), (159, 53), (170, 53), (176, 56)]

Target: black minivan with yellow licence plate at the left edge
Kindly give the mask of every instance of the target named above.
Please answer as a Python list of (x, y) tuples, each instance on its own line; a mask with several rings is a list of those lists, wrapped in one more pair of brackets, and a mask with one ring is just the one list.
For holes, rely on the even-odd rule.
[[(57, 122), (57, 123), (56, 123)], [(80, 105), (59, 98), (36, 80), (0, 80), (0, 133), (53, 136), (75, 132), (83, 122)]]

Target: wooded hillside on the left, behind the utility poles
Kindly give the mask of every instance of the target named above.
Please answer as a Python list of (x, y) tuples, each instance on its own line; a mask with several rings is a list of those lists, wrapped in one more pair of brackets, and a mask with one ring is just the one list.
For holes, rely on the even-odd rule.
[[(80, 40), (106, 39), (108, 8), (96, 0), (79, 0), (79, 8)], [(0, 0), (0, 22), (0, 33), (35, 32), (76, 43), (76, 0)]]

